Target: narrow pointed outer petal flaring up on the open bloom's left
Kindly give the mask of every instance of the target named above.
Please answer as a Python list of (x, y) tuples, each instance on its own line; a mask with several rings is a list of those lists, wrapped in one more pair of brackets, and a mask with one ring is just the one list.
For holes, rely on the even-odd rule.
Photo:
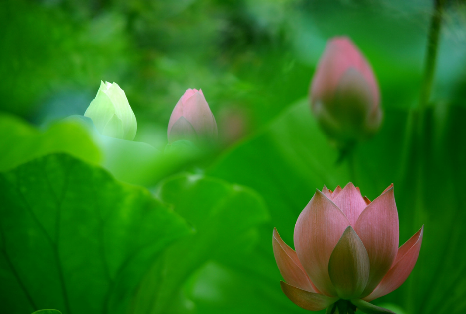
[(272, 236), (272, 246), (274, 249), (275, 261), (277, 262), (283, 279), (290, 285), (300, 289), (318, 292), (312, 286), (311, 280), (309, 280), (296, 252), (286, 245), (275, 228)]

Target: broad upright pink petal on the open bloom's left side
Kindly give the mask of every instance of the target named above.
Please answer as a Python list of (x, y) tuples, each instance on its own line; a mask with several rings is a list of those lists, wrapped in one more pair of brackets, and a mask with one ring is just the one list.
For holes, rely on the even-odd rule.
[(328, 261), (348, 225), (345, 214), (321, 191), (316, 190), (294, 228), (298, 258), (317, 289), (328, 296), (336, 296), (328, 276)]

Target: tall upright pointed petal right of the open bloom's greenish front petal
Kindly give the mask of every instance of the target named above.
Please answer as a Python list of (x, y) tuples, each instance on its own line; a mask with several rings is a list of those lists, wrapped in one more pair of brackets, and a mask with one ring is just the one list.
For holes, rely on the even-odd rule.
[(369, 256), (369, 279), (361, 295), (364, 297), (380, 283), (398, 252), (398, 212), (393, 187), (364, 209), (356, 221), (354, 230)]

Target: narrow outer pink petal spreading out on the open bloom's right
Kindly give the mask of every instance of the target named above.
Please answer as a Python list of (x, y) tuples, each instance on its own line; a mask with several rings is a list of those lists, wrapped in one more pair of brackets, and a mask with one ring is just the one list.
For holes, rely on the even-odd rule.
[(397, 289), (405, 282), (418, 260), (423, 234), (424, 226), (398, 249), (398, 254), (392, 268), (383, 277), (377, 288), (364, 300), (372, 301), (380, 298)]

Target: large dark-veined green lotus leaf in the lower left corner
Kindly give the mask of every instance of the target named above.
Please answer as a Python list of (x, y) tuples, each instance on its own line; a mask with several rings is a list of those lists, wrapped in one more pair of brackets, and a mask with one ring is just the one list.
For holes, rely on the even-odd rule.
[(147, 190), (68, 155), (4, 173), (0, 189), (2, 312), (125, 313), (154, 258), (189, 233)]

